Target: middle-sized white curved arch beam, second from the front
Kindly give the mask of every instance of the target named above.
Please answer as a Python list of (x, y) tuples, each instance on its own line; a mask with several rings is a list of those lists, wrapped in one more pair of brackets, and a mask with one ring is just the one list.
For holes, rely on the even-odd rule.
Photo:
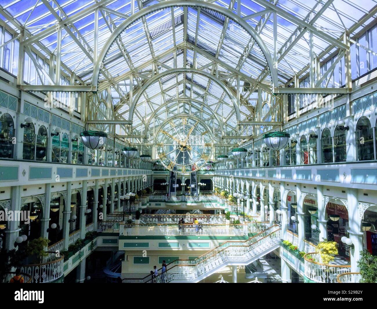
[(129, 120), (132, 121), (132, 117), (133, 117), (133, 110), (135, 109), (135, 106), (136, 104), (138, 103), (138, 100), (139, 100), (139, 97), (141, 96), (141, 94), (143, 94), (143, 92), (150, 86), (152, 85), (155, 81), (159, 80), (160, 78), (166, 76), (166, 75), (172, 75), (172, 74), (175, 74), (175, 73), (183, 73), (183, 72), (187, 72), (187, 73), (193, 73), (193, 74), (198, 74), (198, 75), (203, 75), (207, 78), (210, 78), (211, 80), (215, 81), (216, 83), (219, 84), (219, 86), (221, 86), (224, 91), (229, 95), (230, 97), (230, 100), (233, 102), (233, 105), (234, 105), (234, 109), (236, 110), (236, 115), (237, 115), (237, 119), (238, 120), (241, 120), (241, 114), (240, 114), (240, 111), (239, 111), (239, 106), (237, 106), (237, 100), (236, 98), (234, 97), (234, 95), (230, 92), (229, 88), (227, 86), (225, 86), (221, 80), (219, 80), (219, 78), (217, 78), (216, 76), (214, 75), (211, 75), (210, 73), (207, 73), (205, 71), (201, 71), (201, 70), (198, 70), (198, 69), (191, 69), (191, 68), (178, 68), (178, 69), (171, 69), (171, 70), (167, 70), (167, 71), (164, 71), (160, 74), (157, 74), (155, 76), (153, 76), (152, 78), (150, 78), (144, 85), (143, 87), (140, 88), (140, 90), (138, 91), (138, 93), (136, 94), (135, 98), (133, 99), (132, 101), (132, 105), (130, 106), (130, 110), (129, 110)]

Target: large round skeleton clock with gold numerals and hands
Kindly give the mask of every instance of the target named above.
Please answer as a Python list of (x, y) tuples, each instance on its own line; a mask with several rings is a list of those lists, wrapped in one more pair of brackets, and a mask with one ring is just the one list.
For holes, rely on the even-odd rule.
[(159, 126), (155, 146), (161, 163), (170, 171), (198, 171), (211, 156), (213, 138), (210, 129), (191, 115), (174, 116)]

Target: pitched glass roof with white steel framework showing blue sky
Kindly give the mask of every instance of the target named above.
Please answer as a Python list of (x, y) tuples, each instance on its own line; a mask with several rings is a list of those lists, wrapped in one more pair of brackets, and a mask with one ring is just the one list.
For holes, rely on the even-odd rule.
[[(135, 2), (134, 12), (157, 3)], [(376, 5), (374, 0), (242, 0), (240, 7), (234, 0), (211, 3), (243, 18), (260, 35), (271, 57), (276, 40), (279, 85), (287, 85), (294, 75), (308, 72), (309, 32), (298, 35), (303, 27), (295, 18), (314, 26), (313, 52), (323, 60), (336, 51), (323, 34), (339, 40), (345, 31), (351, 37), (356, 35), (375, 18), (373, 15), (359, 22)], [(56, 55), (60, 23), (62, 71), (74, 74), (76, 83), (85, 85), (92, 83), (95, 51), (100, 54), (112, 32), (131, 16), (132, 10), (131, 2), (124, 0), (0, 0), (0, 5), (2, 20), (15, 34), (24, 29), (26, 45), (47, 58)], [(273, 13), (265, 11), (271, 8), (277, 8), (276, 38)], [(265, 13), (257, 14), (261, 11)], [(130, 105), (143, 85), (175, 68), (201, 70), (217, 81), (188, 72), (165, 75), (143, 91), (130, 116)], [(98, 90), (110, 92), (115, 117), (131, 117), (133, 132), (138, 134), (146, 130), (152, 115), (161, 118), (165, 113), (166, 117), (167, 106), (171, 105), (164, 104), (177, 98), (187, 101), (171, 103), (176, 112), (188, 111), (191, 106), (203, 111), (203, 118), (209, 117), (216, 128), (235, 134), (237, 121), (252, 120), (261, 112), (256, 109), (259, 88), (271, 102), (269, 70), (261, 47), (236, 20), (205, 7), (175, 5), (135, 18), (123, 29), (106, 52)], [(233, 98), (225, 93), (219, 80)], [(238, 95), (239, 119), (233, 101)], [(92, 95), (93, 102), (95, 97)], [(162, 110), (161, 105), (165, 106)]]

